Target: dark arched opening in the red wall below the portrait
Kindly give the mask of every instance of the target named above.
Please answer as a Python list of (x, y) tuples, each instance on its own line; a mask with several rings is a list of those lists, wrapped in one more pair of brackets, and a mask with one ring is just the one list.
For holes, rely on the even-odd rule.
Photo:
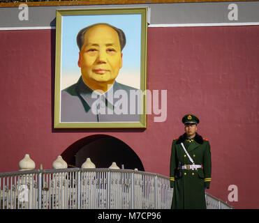
[(112, 162), (116, 162), (119, 168), (124, 166), (124, 169), (137, 168), (145, 171), (140, 158), (131, 147), (106, 134), (94, 134), (75, 141), (61, 155), (68, 167), (81, 167), (89, 157), (96, 168), (108, 168)]

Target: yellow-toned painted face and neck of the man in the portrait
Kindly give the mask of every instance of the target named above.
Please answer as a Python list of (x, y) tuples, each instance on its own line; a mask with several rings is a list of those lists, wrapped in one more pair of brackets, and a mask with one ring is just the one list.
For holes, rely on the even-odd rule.
[(110, 26), (100, 24), (84, 34), (78, 66), (82, 79), (91, 89), (113, 84), (122, 66), (119, 36)]

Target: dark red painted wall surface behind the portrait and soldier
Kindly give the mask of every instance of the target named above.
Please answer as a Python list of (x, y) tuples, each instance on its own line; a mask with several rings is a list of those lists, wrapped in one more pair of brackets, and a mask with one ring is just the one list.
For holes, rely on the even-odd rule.
[[(207, 192), (235, 208), (259, 208), (259, 26), (149, 28), (147, 89), (168, 91), (168, 116), (146, 130), (54, 130), (55, 31), (0, 31), (0, 172), (16, 171), (29, 153), (36, 168), (91, 134), (109, 134), (138, 154), (146, 171), (169, 175), (172, 139), (182, 116), (200, 118), (198, 132), (212, 146)], [(161, 91), (160, 91), (161, 93)]]

